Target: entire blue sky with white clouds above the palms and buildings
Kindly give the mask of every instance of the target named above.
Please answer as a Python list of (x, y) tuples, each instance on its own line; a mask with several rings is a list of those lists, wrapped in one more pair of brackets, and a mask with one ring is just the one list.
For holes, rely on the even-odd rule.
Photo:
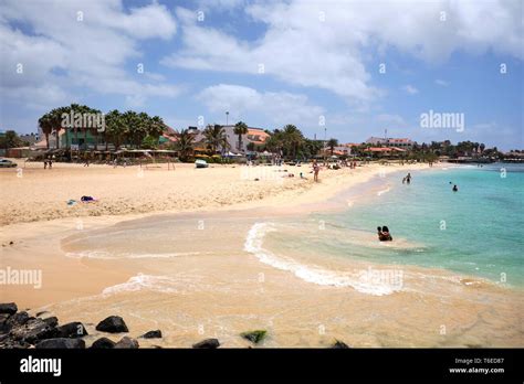
[[(76, 102), (176, 129), (228, 110), (342, 142), (388, 129), (522, 149), (522, 14), (518, 0), (1, 0), (0, 129)], [(430, 109), (463, 114), (464, 131), (420, 127)]]

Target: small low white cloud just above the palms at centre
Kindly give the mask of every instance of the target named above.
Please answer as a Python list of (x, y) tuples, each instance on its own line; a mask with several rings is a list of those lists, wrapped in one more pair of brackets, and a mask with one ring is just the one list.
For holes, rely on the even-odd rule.
[(306, 96), (286, 92), (258, 92), (240, 85), (219, 84), (207, 87), (197, 98), (212, 113), (230, 113), (232, 121), (244, 114), (260, 114), (275, 125), (289, 122), (318, 125), (322, 107), (310, 103)]

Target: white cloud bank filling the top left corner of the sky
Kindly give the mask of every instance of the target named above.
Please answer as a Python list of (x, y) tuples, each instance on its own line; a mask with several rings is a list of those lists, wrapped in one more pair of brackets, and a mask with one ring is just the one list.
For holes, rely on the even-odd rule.
[[(119, 0), (11, 1), (0, 3), (0, 13), (1, 92), (24, 105), (39, 99), (48, 108), (55, 107), (70, 103), (71, 93), (115, 94), (144, 102), (179, 92), (155, 83), (154, 75), (125, 68), (132, 60), (139, 62), (139, 41), (167, 40), (176, 33), (175, 20), (161, 4), (126, 12)], [(21, 22), (23, 32), (13, 22)], [(17, 73), (18, 64), (23, 65), (22, 74)]]

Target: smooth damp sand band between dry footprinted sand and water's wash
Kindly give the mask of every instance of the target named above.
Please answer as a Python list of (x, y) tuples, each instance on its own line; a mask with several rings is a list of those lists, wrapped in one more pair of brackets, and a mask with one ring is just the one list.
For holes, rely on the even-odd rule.
[[(438, 169), (438, 167), (433, 169)], [(172, 215), (181, 217), (185, 215), (201, 216), (209, 214), (212, 216), (228, 213), (242, 216), (247, 211), (269, 216), (304, 214), (304, 212), (308, 211), (302, 207), (308, 206), (315, 211), (323, 210), (325, 207), (323, 203), (344, 191), (365, 185), (380, 170), (384, 170), (386, 174), (390, 174), (402, 170), (431, 170), (431, 168), (427, 164), (404, 167), (363, 166), (354, 170), (356, 171), (355, 174), (331, 171), (333, 172), (331, 178), (321, 179), (321, 183), (313, 184), (308, 189), (298, 188), (291, 191), (281, 191), (276, 195), (250, 202), (138, 214), (73, 216), (4, 225), (0, 233), (0, 252), (3, 254), (4, 265), (19, 269), (43, 267), (43, 274), (48, 276), (46, 289), (25, 289), (27, 287), (14, 289), (12, 286), (7, 285), (4, 286), (6, 297), (10, 297), (11, 301), (15, 301), (21, 306), (42, 307), (86, 295), (96, 295), (107, 287), (123, 284), (135, 276), (133, 271), (126, 270), (122, 266), (118, 269), (111, 270), (101, 260), (83, 260), (82, 258), (66, 257), (62, 248), (62, 239), (82, 234), (84, 231), (104, 231), (115, 225), (125, 225), (127, 222), (156, 220)], [(347, 169), (346, 171), (350, 170)], [(271, 212), (266, 212), (268, 210)], [(11, 242), (13, 242), (12, 245), (10, 245)], [(43, 259), (45, 259), (44, 266), (42, 266)], [(73, 277), (66, 277), (69, 275)], [(83, 282), (81, 286), (75, 281), (75, 277), (80, 278), (80, 276), (82, 276), (81, 280)]]

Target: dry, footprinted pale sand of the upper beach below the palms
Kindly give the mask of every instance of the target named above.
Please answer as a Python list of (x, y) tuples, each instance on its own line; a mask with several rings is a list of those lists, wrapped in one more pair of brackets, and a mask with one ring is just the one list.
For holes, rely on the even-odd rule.
[[(142, 169), (55, 163), (52, 170), (44, 170), (41, 163), (28, 163), (21, 171), (0, 169), (0, 225), (64, 217), (209, 211), (233, 205), (244, 209), (296, 205), (325, 200), (379, 172), (427, 168), (427, 164), (371, 164), (355, 170), (323, 170), (321, 182), (314, 183), (311, 167), (306, 166), (214, 164), (196, 169), (193, 164), (182, 163), (168, 170), (166, 164)], [(300, 172), (307, 179), (301, 179)], [(290, 173), (294, 177), (286, 177)], [(83, 195), (98, 201), (81, 203)], [(70, 200), (76, 203), (67, 205)]]

